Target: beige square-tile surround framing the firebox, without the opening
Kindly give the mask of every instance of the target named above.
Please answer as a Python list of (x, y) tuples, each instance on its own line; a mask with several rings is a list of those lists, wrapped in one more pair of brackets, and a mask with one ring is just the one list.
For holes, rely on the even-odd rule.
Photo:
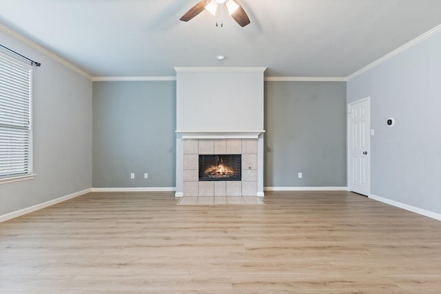
[[(183, 139), (183, 196), (256, 196), (257, 139)], [(199, 154), (241, 154), (241, 181), (199, 181)]]

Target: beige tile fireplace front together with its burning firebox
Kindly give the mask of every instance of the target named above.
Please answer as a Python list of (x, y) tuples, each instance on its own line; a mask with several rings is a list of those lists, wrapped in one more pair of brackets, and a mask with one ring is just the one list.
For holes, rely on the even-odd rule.
[[(257, 150), (253, 138), (183, 139), (183, 196), (257, 196)], [(223, 167), (216, 171), (218, 165)]]

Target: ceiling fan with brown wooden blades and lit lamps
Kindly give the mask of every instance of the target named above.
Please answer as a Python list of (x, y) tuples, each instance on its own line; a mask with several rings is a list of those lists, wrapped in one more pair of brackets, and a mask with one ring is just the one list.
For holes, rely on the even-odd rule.
[[(213, 15), (216, 15), (216, 12), (222, 14), (223, 7), (227, 8), (229, 15), (233, 17), (233, 19), (241, 26), (245, 27), (250, 23), (249, 18), (245, 10), (243, 10), (242, 6), (237, 3), (236, 0), (202, 0), (197, 3), (195, 6), (190, 8), (182, 17), (181, 21), (189, 21), (193, 17), (196, 17), (199, 13), (203, 12), (204, 9), (211, 12)], [(218, 10), (220, 12), (218, 12)], [(223, 26), (223, 23), (220, 21), (218, 23), (216, 21), (216, 26)]]

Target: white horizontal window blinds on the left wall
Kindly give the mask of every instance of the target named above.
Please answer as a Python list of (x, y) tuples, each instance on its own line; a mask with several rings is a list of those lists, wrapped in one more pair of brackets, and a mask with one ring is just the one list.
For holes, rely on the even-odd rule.
[(0, 179), (32, 173), (32, 67), (0, 54)]

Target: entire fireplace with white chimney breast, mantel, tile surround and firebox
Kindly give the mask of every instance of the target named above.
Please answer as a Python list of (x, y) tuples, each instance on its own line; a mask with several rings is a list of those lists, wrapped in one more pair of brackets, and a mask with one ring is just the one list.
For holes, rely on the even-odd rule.
[[(263, 73), (266, 67), (174, 69), (175, 195), (198, 198), (264, 196)], [(217, 114), (224, 116), (218, 118)], [(200, 156), (206, 155), (212, 157), (212, 162), (200, 169)], [(240, 166), (220, 156), (239, 156)]]

